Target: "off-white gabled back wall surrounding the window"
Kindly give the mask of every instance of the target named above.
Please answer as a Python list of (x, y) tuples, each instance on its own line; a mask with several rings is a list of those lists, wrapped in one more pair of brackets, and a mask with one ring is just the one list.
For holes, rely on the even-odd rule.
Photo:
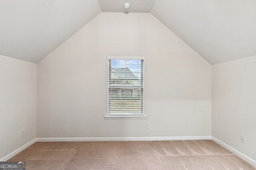
[[(145, 57), (148, 119), (104, 119), (108, 55)], [(38, 137), (204, 135), (211, 65), (152, 14), (101, 13), (38, 63)]]

